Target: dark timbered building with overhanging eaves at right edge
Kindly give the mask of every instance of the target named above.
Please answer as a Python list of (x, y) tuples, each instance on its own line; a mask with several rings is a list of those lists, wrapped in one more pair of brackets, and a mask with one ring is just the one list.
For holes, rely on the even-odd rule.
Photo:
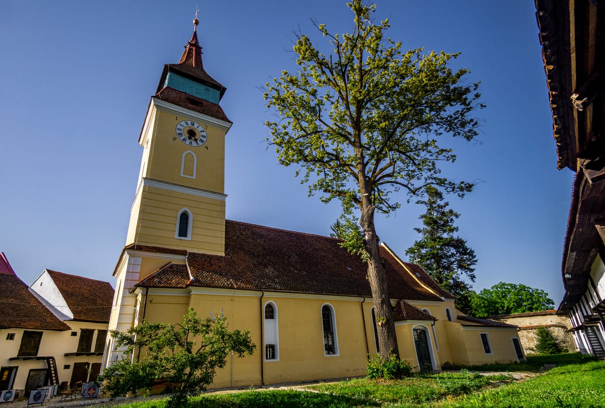
[(557, 313), (571, 320), (580, 351), (605, 358), (605, 33), (597, 3), (535, 0), (557, 165), (575, 172)]

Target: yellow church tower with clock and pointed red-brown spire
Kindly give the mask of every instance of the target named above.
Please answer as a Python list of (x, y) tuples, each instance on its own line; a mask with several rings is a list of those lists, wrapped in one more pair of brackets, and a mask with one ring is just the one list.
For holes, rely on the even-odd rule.
[[(204, 70), (198, 24), (196, 13), (191, 39), (180, 61), (164, 66), (145, 115), (126, 245), (113, 273), (113, 330), (145, 317), (145, 299), (131, 293), (140, 279), (168, 263), (186, 265), (189, 252), (224, 255), (224, 146), (232, 123), (219, 105), (226, 88)], [(174, 307), (186, 311), (166, 304)], [(108, 338), (103, 368), (122, 358)]]

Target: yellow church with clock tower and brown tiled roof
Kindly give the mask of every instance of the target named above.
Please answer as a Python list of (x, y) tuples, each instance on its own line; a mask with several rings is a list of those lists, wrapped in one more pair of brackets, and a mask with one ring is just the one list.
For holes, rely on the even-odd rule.
[[(367, 265), (338, 239), (225, 219), (232, 123), (219, 105), (224, 91), (204, 71), (194, 30), (180, 62), (165, 66), (139, 137), (110, 329), (181, 322), (189, 307), (200, 316), (224, 313), (258, 348), (229, 360), (211, 387), (364, 375), (377, 352)], [(385, 244), (380, 251), (399, 352), (414, 367), (524, 358), (516, 326), (463, 316), (422, 268)], [(124, 358), (111, 338), (105, 350), (103, 367)]]

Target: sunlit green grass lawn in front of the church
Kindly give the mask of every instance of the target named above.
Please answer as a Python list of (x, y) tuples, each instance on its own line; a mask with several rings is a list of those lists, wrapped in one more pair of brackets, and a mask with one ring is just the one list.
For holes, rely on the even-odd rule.
[[(309, 386), (310, 391), (248, 390), (191, 398), (191, 407), (603, 407), (605, 362), (580, 354), (529, 357), (527, 363), (482, 366), (482, 371), (540, 371), (557, 367), (531, 380), (515, 383), (508, 375), (484, 376), (462, 372), (416, 374), (399, 381), (358, 378)], [(122, 407), (162, 408), (162, 400)]]

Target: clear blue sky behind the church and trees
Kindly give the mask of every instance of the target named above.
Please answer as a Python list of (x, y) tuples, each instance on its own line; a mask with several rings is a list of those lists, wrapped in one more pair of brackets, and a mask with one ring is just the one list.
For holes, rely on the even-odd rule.
[[(295, 70), (293, 30), (352, 29), (345, 1), (201, 2), (204, 67), (227, 87), (227, 218), (328, 235), (339, 206), (307, 197), (281, 167), (258, 89)], [(0, 2), (0, 251), (30, 284), (50, 268), (110, 282), (139, 174), (139, 132), (162, 72), (192, 33), (195, 2)], [(505, 281), (563, 296), (561, 254), (572, 172), (557, 170), (533, 1), (378, 2), (405, 49), (460, 51), (482, 82), (480, 143), (456, 143), (450, 176), (482, 180), (460, 200), (460, 236), (474, 248), (477, 290)], [(315, 36), (315, 33), (313, 33)], [(423, 208), (379, 217), (405, 259)]]

